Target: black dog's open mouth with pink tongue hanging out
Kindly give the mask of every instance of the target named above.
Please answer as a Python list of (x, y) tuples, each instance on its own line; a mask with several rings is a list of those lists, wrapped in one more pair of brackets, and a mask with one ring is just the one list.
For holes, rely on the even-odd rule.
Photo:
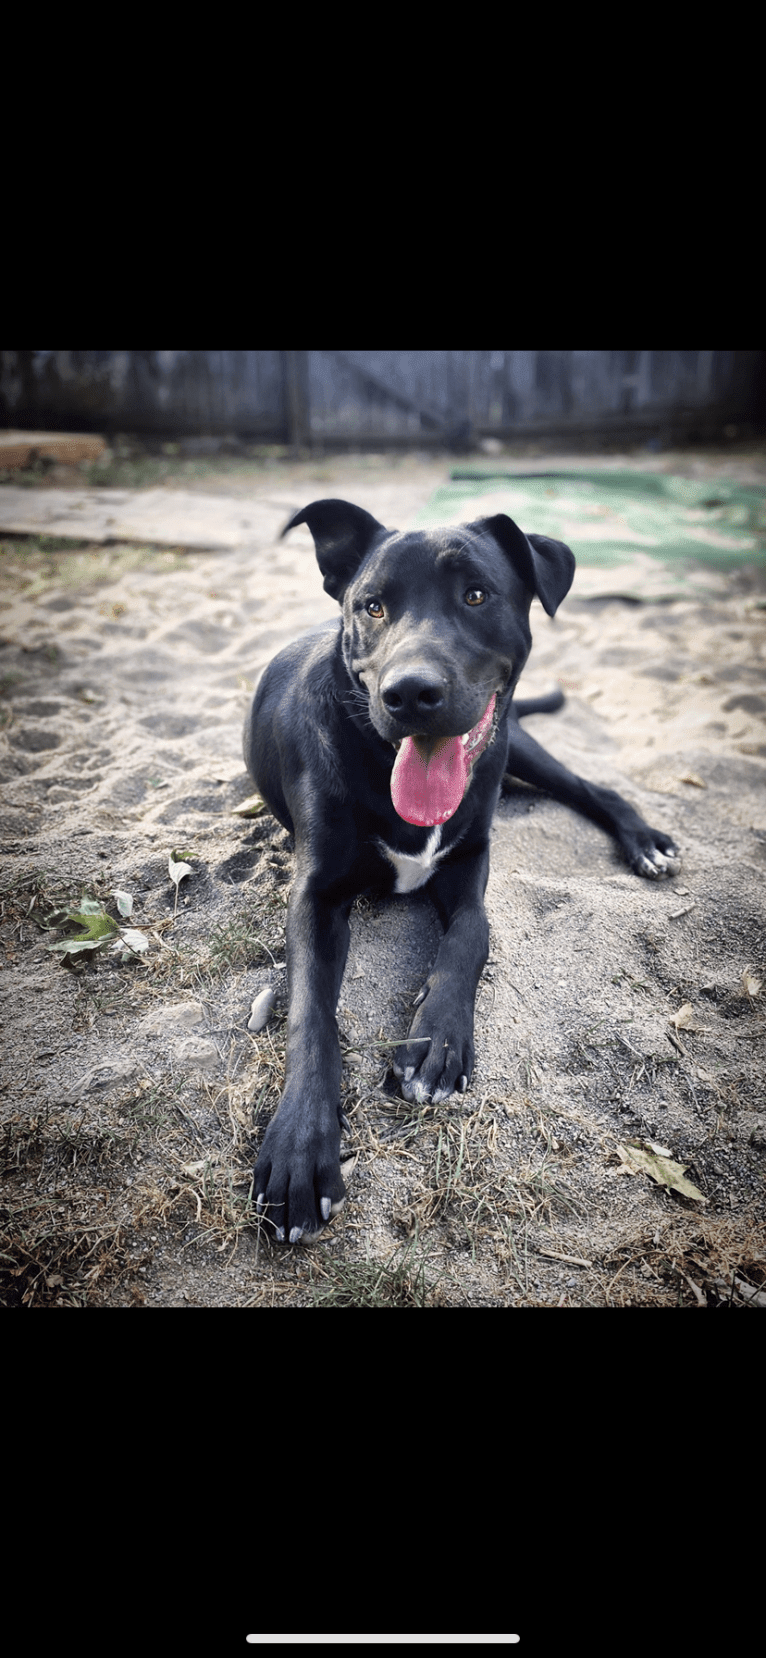
[(391, 801), (408, 824), (433, 829), (454, 817), (471, 771), (494, 730), (496, 695), (464, 736), (406, 736), (391, 773)]

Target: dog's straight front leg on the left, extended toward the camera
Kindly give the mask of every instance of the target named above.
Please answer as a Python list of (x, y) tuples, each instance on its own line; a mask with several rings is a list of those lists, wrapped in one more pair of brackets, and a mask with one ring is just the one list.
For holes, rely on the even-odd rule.
[(340, 1045), (335, 1023), (351, 900), (330, 904), (297, 877), (287, 917), (287, 1083), (254, 1174), (279, 1244), (310, 1242), (343, 1205)]

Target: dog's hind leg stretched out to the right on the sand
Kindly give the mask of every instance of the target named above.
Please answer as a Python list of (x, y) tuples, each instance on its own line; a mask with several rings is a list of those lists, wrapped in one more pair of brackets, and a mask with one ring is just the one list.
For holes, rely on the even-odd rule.
[(678, 872), (681, 854), (670, 836), (662, 829), (650, 829), (613, 789), (602, 789), (597, 783), (585, 783), (574, 771), (567, 771), (516, 721), (509, 734), (506, 776), (534, 783), (555, 801), (592, 817), (615, 837), (637, 875), (657, 879)]

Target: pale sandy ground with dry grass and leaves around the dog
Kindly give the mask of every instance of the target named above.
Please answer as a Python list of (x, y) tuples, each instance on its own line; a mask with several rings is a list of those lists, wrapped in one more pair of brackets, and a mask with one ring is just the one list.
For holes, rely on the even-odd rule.
[[(766, 481), (758, 451), (604, 464)], [(584, 599), (575, 582), (554, 622), (534, 607), (521, 695), (560, 683), (567, 705), (529, 730), (670, 832), (683, 870), (640, 880), (565, 807), (522, 786), (504, 797), (476, 1073), (438, 1108), (398, 1098), (385, 1046), (408, 1028), (436, 917), (423, 894), (360, 902), (338, 1010), (350, 1197), (313, 1248), (274, 1250), (252, 1225), (254, 1149), (282, 1074), (292, 852), (270, 817), (234, 814), (252, 794), (240, 728), (265, 662), (337, 613), (308, 532), (277, 536), (318, 496), (403, 529), (448, 466), (338, 458), (184, 478), (247, 504), (247, 544), (217, 552), (2, 537), (8, 1305), (766, 1303), (766, 585), (753, 569), (708, 600)], [(176, 914), (171, 854), (191, 867)], [(63, 965), (56, 917), (86, 897), (119, 919), (116, 890), (133, 899), (123, 925), (149, 940), (141, 960), (106, 948)], [(269, 985), (275, 1013), (250, 1033)], [(647, 1159), (671, 1180), (685, 1169), (691, 1195)]]

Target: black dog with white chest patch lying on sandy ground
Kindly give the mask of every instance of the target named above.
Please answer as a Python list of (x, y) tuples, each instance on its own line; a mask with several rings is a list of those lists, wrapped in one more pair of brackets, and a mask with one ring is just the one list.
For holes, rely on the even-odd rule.
[(443, 1101), (464, 1093), (474, 1064), (489, 827), (506, 773), (594, 817), (638, 875), (678, 869), (668, 836), (519, 726), (564, 701), (512, 703), (532, 597), (554, 615), (572, 585), (564, 542), (524, 536), (504, 512), (400, 536), (348, 501), (312, 502), (284, 534), (297, 524), (343, 618), (280, 652), (245, 725), (247, 768), (295, 836), (287, 1086), (255, 1164), (257, 1207), (290, 1244), (315, 1237), (345, 1194), (335, 1008), (356, 894), (428, 882), (444, 937), (395, 1071), (406, 1099)]

